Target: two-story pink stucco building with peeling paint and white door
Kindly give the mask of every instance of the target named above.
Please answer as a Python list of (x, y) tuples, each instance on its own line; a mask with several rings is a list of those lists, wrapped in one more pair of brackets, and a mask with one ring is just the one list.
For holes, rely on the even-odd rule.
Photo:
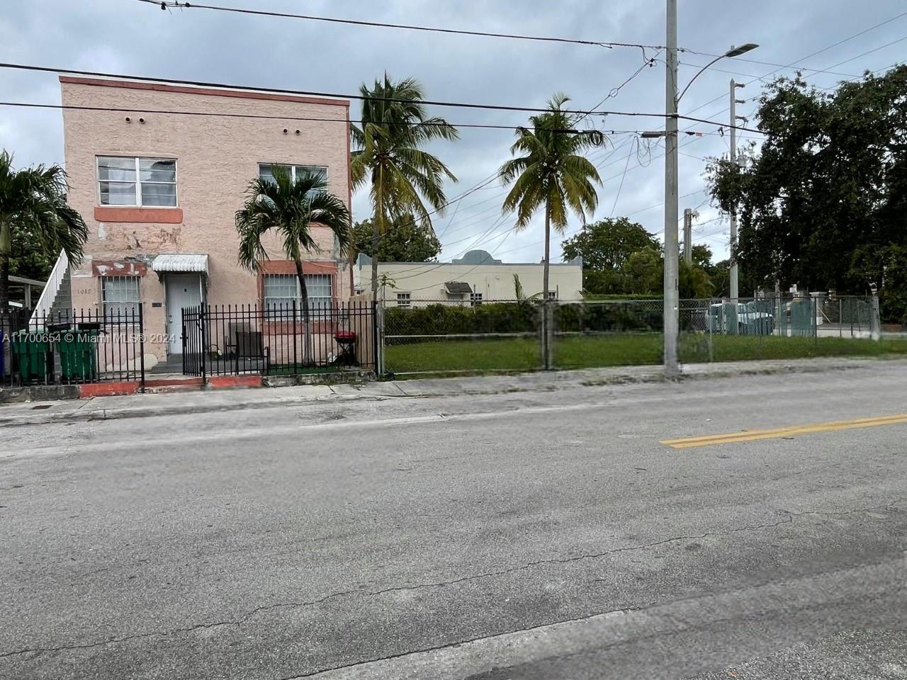
[[(183, 306), (267, 306), (297, 295), (276, 236), (266, 241), (262, 275), (239, 267), (234, 213), (249, 180), (272, 165), (327, 173), (328, 190), (349, 208), (349, 102), (98, 78), (60, 83), (63, 105), (75, 107), (63, 110), (68, 200), (90, 228), (86, 257), (66, 277), (73, 307), (141, 303), (145, 353), (161, 361), (180, 354)], [(349, 265), (330, 230), (313, 231), (320, 251), (304, 267), (310, 301), (346, 300)]]

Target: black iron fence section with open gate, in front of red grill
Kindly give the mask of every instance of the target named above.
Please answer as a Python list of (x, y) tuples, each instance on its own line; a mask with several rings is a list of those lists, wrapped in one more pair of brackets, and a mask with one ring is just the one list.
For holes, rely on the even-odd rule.
[(187, 375), (293, 375), (377, 368), (375, 303), (203, 305), (182, 310)]

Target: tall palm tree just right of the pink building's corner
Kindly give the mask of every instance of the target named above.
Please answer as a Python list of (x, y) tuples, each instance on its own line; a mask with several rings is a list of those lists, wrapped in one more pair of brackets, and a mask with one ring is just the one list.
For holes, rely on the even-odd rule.
[[(353, 186), (371, 186), (373, 252), (390, 219), (413, 213), (422, 224), (432, 220), (425, 204), (444, 214), (444, 179), (453, 173), (421, 147), (434, 139), (456, 140), (460, 135), (443, 118), (429, 118), (424, 91), (413, 78), (394, 82), (385, 73), (371, 89), (363, 83), (361, 127), (351, 126), (356, 151), (352, 154)], [(372, 296), (378, 295), (378, 258), (372, 257)]]

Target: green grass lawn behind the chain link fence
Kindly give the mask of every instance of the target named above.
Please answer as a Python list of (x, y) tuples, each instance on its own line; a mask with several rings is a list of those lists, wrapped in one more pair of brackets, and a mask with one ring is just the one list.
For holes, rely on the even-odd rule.
[[(799, 359), (813, 356), (907, 355), (907, 339), (881, 342), (839, 337), (777, 337), (714, 335), (709, 356), (708, 335), (683, 334), (680, 359), (686, 363)], [(560, 337), (554, 347), (557, 368), (661, 363), (658, 333), (616, 333)], [(385, 366), (394, 374), (423, 372), (533, 371), (541, 368), (541, 347), (535, 338), (431, 341), (385, 347)]]

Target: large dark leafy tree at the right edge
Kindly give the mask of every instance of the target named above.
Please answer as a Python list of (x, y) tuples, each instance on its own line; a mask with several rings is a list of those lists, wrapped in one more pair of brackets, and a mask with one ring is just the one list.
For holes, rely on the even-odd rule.
[(836, 92), (799, 76), (766, 88), (761, 147), (707, 170), (712, 198), (739, 216), (742, 275), (853, 294), (892, 285), (892, 253), (907, 247), (905, 97), (907, 66)]

